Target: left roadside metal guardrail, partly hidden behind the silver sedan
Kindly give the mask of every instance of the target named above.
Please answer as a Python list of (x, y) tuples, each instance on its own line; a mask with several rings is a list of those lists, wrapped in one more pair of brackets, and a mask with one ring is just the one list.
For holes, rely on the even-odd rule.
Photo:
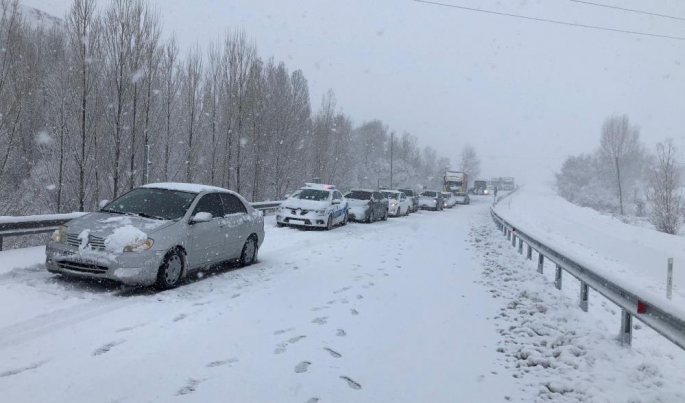
[[(282, 201), (250, 203), (257, 210), (274, 210)], [(60, 225), (81, 217), (87, 213), (50, 214), (23, 217), (0, 217), (0, 251), (2, 240), (10, 236), (47, 234), (56, 230)]]

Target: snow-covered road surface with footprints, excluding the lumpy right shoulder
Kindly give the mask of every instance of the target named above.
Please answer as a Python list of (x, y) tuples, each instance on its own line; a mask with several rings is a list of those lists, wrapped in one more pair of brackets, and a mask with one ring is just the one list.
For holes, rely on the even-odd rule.
[(3, 400), (504, 401), (498, 301), (467, 243), (486, 208), (270, 222), (259, 264), (162, 293), (3, 268)]

